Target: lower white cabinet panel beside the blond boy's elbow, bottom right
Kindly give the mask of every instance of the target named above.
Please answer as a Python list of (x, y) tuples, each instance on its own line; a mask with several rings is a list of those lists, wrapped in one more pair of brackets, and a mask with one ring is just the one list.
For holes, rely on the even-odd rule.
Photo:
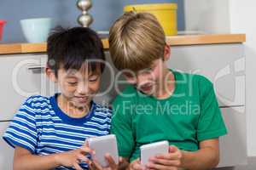
[(220, 137), (220, 162), (218, 167), (247, 164), (247, 124), (245, 107), (222, 108), (228, 134)]

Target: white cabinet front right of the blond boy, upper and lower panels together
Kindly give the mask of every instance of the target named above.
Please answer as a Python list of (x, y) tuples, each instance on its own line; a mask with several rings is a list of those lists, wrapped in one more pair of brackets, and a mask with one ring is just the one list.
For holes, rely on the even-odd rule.
[(243, 45), (218, 44), (171, 48), (167, 65), (172, 69), (201, 74), (215, 88), (228, 134), (220, 138), (218, 167), (247, 163), (245, 111), (245, 56)]

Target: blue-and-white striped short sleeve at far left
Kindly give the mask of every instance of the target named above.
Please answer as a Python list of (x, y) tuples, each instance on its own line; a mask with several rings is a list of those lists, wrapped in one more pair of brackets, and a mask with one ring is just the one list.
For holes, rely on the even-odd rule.
[(12, 147), (20, 146), (32, 153), (38, 143), (35, 112), (32, 108), (32, 99), (26, 99), (21, 105), (14, 119), (3, 134), (3, 139)]

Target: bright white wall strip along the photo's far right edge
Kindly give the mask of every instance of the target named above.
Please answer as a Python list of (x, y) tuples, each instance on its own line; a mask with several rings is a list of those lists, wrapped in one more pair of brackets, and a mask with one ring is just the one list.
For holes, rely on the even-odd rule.
[(247, 34), (247, 153), (256, 156), (256, 1), (230, 0), (230, 29), (232, 33)]

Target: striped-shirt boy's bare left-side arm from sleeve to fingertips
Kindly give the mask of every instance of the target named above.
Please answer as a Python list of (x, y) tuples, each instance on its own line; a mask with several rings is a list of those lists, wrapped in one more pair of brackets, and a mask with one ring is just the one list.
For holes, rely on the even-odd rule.
[(29, 150), (20, 146), (15, 147), (14, 169), (15, 170), (45, 170), (52, 169), (59, 166), (75, 167), (75, 169), (82, 170), (79, 167), (79, 161), (89, 162), (85, 156), (86, 153), (91, 153), (92, 150), (82, 146), (77, 150), (51, 154), (49, 156), (32, 155)]

